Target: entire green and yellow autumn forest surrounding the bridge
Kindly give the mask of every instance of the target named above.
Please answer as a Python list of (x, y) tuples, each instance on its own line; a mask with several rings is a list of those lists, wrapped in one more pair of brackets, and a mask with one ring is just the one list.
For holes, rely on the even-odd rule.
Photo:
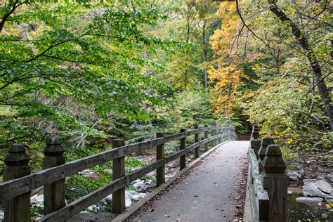
[[(49, 137), (61, 138), (70, 162), (115, 138), (137, 143), (215, 121), (245, 138), (256, 122), (296, 186), (320, 175), (332, 185), (332, 19), (327, 0), (1, 1), (0, 181), (15, 143), (35, 172)], [(149, 158), (126, 157), (126, 169)], [(111, 168), (67, 178), (66, 200), (110, 183)], [(332, 199), (320, 207), (332, 216)]]

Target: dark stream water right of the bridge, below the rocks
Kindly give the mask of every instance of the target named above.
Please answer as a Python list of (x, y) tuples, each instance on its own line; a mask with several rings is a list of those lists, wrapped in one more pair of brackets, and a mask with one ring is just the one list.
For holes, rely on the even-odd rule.
[(301, 196), (296, 193), (288, 195), (287, 221), (333, 221), (333, 211), (325, 207), (325, 202), (321, 206), (296, 202), (296, 197)]

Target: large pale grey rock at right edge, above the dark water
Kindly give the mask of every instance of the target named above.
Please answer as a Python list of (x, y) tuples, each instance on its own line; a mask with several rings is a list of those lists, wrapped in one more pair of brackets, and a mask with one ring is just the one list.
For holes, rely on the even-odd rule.
[(323, 180), (303, 180), (303, 195), (310, 197), (328, 197), (333, 192), (332, 186)]

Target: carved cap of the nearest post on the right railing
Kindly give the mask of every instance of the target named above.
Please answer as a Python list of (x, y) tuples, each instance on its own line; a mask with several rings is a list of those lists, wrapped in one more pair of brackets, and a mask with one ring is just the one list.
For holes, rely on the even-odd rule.
[(263, 159), (263, 170), (266, 174), (284, 174), (287, 169), (282, 152), (278, 145), (268, 145), (266, 157)]

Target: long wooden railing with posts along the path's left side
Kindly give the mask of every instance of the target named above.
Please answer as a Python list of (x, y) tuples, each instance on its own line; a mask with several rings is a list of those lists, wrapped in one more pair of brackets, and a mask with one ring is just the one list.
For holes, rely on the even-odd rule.
[[(210, 132), (210, 137), (208, 133)], [(200, 141), (200, 133), (204, 139)], [(186, 138), (195, 136), (195, 143), (186, 145)], [(125, 211), (125, 185), (157, 170), (157, 186), (165, 182), (165, 164), (180, 158), (180, 169), (186, 166), (186, 154), (195, 150), (195, 159), (200, 155), (200, 148), (208, 150), (208, 143), (214, 147), (222, 141), (237, 138), (231, 128), (205, 125), (204, 128), (185, 131), (171, 136), (157, 133), (157, 138), (141, 143), (124, 145), (124, 140), (112, 141), (112, 150), (100, 152), (96, 155), (84, 157), (65, 163), (64, 150), (58, 138), (46, 141), (44, 150), (43, 170), (30, 174), (28, 162), (30, 157), (25, 153), (25, 147), (20, 144), (12, 145), (4, 159), (4, 183), (0, 183), (0, 200), (4, 203), (4, 221), (30, 221), (30, 193), (32, 190), (44, 186), (44, 217), (39, 221), (65, 221), (92, 204), (102, 200), (112, 193), (112, 213), (121, 214)], [(164, 144), (180, 141), (180, 149), (172, 155), (164, 156)], [(133, 152), (156, 147), (157, 160), (148, 166), (125, 174), (124, 158)], [(112, 160), (112, 183), (104, 185), (98, 190), (84, 197), (65, 204), (65, 178), (89, 169), (98, 164)]]

